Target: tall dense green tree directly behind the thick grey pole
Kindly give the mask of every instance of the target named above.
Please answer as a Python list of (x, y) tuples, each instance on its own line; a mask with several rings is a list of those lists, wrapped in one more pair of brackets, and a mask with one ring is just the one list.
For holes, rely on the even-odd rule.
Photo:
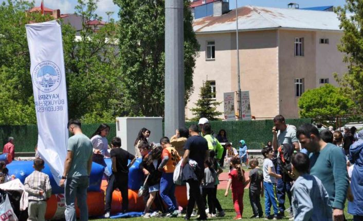
[[(164, 116), (165, 0), (114, 0), (118, 22), (123, 104), (131, 115)], [(184, 0), (185, 99), (193, 90), (199, 45), (192, 27), (190, 1)]]

